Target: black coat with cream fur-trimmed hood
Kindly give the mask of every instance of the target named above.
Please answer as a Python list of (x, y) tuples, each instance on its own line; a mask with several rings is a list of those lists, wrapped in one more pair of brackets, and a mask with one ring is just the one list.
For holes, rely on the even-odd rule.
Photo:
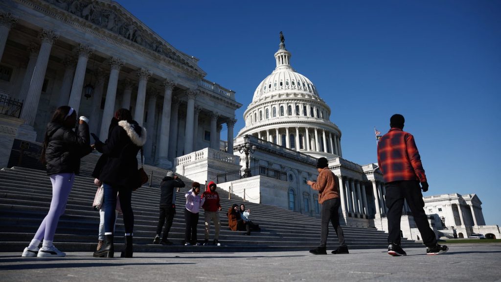
[(106, 155), (98, 179), (117, 187), (139, 187), (137, 153), (146, 143), (146, 129), (137, 122), (122, 120), (115, 126), (105, 143), (96, 142), (96, 150)]

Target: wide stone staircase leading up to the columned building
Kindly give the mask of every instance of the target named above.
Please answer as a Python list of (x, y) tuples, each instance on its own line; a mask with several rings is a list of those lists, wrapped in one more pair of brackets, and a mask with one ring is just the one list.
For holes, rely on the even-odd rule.
[[(96, 186), (90, 176), (99, 156), (89, 154), (82, 159), (81, 174), (76, 176), (70, 193), (65, 214), (61, 216), (55, 245), (63, 251), (89, 251), (97, 246), (99, 213), (92, 208)], [(231, 231), (227, 227), (227, 209), (233, 203), (243, 203), (243, 199), (218, 189), (221, 197), (220, 212), (221, 246), (184, 246), (184, 194), (190, 189), (192, 181), (181, 177), (186, 187), (177, 192), (176, 215), (169, 233), (169, 240), (174, 245), (163, 246), (152, 244), (158, 220), (159, 184), (166, 170), (153, 166), (144, 166), (151, 177), (149, 183), (132, 194), (134, 210), (134, 251), (135, 252), (200, 252), (200, 251), (286, 251), (308, 250), (320, 241), (320, 220), (286, 209), (245, 202), (246, 208), (252, 210), (252, 219), (260, 225), (261, 232), (253, 232), (251, 236), (242, 231)], [(201, 190), (205, 190), (202, 184)], [(0, 251), (21, 251), (33, 238), (43, 218), (47, 214), (52, 197), (51, 182), (45, 171), (12, 167), (0, 171)], [(351, 249), (387, 247), (383, 231), (375, 228), (343, 226), (346, 241)], [(203, 240), (203, 210), (200, 211), (198, 224), (198, 240)], [(123, 234), (121, 215), (117, 220), (116, 234)], [(210, 240), (213, 239), (211, 226)], [(335, 232), (330, 226), (328, 248), (338, 246)], [(120, 251), (123, 238), (115, 237), (116, 250)], [(420, 247), (422, 244), (402, 240), (403, 247)]]

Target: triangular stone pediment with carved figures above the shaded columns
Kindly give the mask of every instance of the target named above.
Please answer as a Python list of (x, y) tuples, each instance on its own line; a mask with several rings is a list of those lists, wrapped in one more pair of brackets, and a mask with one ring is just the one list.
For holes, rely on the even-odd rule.
[(40, 0), (73, 14), (101, 29), (105, 29), (128, 41), (136, 43), (158, 55), (175, 61), (205, 76), (205, 72), (197, 66), (198, 59), (186, 55), (150, 28), (144, 25), (120, 4), (108, 0)]

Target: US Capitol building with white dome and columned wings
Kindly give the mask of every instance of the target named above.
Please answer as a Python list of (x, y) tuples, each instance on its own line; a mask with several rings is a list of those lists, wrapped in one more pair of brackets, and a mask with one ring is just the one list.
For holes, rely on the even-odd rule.
[[(216, 181), (246, 201), (320, 216), (316, 160), (338, 178), (342, 222), (387, 230), (385, 183), (377, 164), (343, 158), (342, 133), (315, 85), (296, 72), (281, 33), (276, 68), (256, 88), (236, 138), (235, 92), (206, 80), (198, 58), (175, 49), (108, 0), (0, 3), (0, 166), (15, 139), (42, 142), (60, 105), (88, 116), (106, 139), (111, 117), (129, 108), (145, 126), (146, 163), (193, 181)], [(220, 136), (225, 126), (227, 136)], [(424, 197), (438, 235), (501, 237), (486, 226), (474, 194)], [(404, 206), (402, 235), (418, 239)]]

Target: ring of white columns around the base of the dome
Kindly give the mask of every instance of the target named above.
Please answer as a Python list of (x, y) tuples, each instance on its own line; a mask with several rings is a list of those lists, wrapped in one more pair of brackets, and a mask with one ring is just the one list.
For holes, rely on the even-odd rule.
[[(295, 126), (292, 127), (293, 129), (290, 130), (290, 127), (285, 127), (285, 128), (275, 128), (273, 129), (266, 129), (266, 135), (262, 134), (262, 131), (258, 131), (258, 138), (260, 139), (265, 139), (268, 142), (273, 142), (273, 137), (276, 136), (276, 144), (280, 146), (287, 147), (289, 149), (295, 149), (296, 151), (301, 151), (301, 146), (300, 146), (300, 133), (304, 133), (303, 137), (303, 151), (314, 151), (314, 152), (324, 152), (324, 153), (331, 153), (331, 154), (336, 154), (340, 157), (342, 157), (342, 152), (341, 152), (341, 138), (332, 133), (329, 132), (325, 129), (318, 129), (316, 127), (313, 128), (314, 133), (312, 134), (312, 138), (310, 138), (310, 131), (311, 128), (309, 127), (300, 127), (300, 126)], [(300, 132), (300, 128), (302, 129)], [(285, 134), (286, 134), (286, 142), (285, 144), (282, 144), (282, 134), (280, 132), (284, 131), (285, 129)], [(292, 148), (291, 142), (290, 142), (290, 134), (294, 134), (295, 138), (295, 146)], [(322, 138), (322, 139), (321, 139)], [(329, 140), (329, 143), (327, 143), (327, 140)], [(312, 144), (313, 141), (313, 144)], [(322, 146), (321, 142), (324, 144), (324, 148), (322, 151)], [(331, 149), (329, 152), (329, 148)]]

